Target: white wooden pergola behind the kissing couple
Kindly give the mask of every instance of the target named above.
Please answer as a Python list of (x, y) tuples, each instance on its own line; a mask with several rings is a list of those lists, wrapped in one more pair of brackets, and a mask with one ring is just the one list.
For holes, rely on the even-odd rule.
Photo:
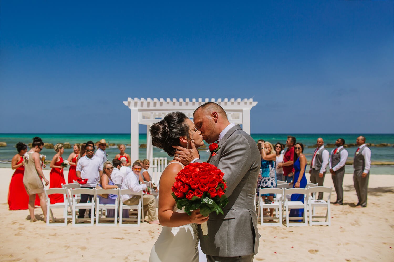
[(250, 110), (257, 104), (253, 98), (249, 99), (189, 99), (179, 100), (163, 99), (163, 98), (128, 98), (123, 104), (130, 108), (130, 158), (132, 161), (139, 158), (138, 156), (138, 134), (139, 124), (147, 126), (147, 155), (146, 158), (152, 163), (153, 159), (153, 146), (152, 138), (149, 133), (149, 128), (154, 123), (162, 120), (164, 116), (170, 112), (180, 111), (183, 112), (190, 119), (193, 118), (194, 110), (207, 102), (215, 102), (219, 104), (227, 113), (230, 123), (242, 125), (245, 132), (250, 134)]

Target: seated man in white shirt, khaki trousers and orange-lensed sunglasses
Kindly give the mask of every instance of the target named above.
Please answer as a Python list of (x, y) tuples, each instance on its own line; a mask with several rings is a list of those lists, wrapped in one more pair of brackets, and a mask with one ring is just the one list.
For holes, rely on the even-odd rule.
[[(122, 202), (125, 205), (138, 205), (141, 196), (139, 192), (146, 190), (147, 185), (139, 184), (138, 178), (141, 171), (141, 164), (136, 162), (132, 165), (133, 172), (128, 173), (122, 183), (121, 189), (130, 189), (132, 194), (122, 195)], [(149, 224), (160, 224), (156, 216), (156, 198), (152, 195), (144, 194), (142, 199), (144, 205), (144, 216), (147, 215)]]

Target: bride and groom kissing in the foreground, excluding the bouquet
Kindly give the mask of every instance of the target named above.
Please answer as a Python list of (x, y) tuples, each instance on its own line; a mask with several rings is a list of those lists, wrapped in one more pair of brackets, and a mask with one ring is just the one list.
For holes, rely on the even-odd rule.
[[(194, 123), (193, 123), (194, 122)], [(152, 247), (151, 262), (198, 262), (198, 241), (208, 262), (253, 261), (258, 252), (255, 189), (261, 157), (256, 143), (239, 125), (229, 122), (223, 108), (205, 103), (193, 113), (193, 122), (182, 112), (172, 112), (151, 126), (152, 145), (174, 157), (160, 177), (158, 218), (162, 232)], [(189, 163), (202, 163), (198, 147), (217, 141), (219, 150), (209, 163), (221, 169), (227, 181), (229, 203), (224, 214), (208, 217), (194, 210), (189, 216), (177, 209), (171, 187), (178, 172)], [(201, 224), (207, 222), (208, 237)], [(200, 261), (202, 258), (200, 258)]]

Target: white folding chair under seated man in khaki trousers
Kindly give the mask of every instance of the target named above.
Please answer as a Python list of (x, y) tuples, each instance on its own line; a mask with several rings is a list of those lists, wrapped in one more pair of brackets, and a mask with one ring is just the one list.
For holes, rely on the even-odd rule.
[[(139, 191), (141, 198), (139, 198), (138, 204), (137, 205), (125, 205), (122, 202), (122, 195), (130, 195), (132, 194), (130, 189), (118, 189), (118, 199), (119, 199), (119, 227), (123, 226), (139, 226), (140, 222), (144, 222), (144, 205), (142, 202), (143, 198), (143, 193), (142, 191)], [(136, 209), (137, 214), (134, 217), (130, 218), (123, 218), (123, 210), (127, 209)], [(132, 214), (134, 216), (134, 214)], [(137, 224), (123, 224), (123, 220), (125, 221), (137, 221)]]

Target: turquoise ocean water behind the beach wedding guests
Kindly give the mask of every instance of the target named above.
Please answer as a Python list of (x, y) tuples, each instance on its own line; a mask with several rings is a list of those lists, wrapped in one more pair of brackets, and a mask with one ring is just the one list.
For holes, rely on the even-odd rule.
[[(318, 137), (322, 137), (324, 139), (325, 144), (327, 143), (335, 143), (336, 139), (343, 138), (346, 143), (355, 143), (357, 136), (359, 134), (290, 134), (297, 138), (297, 142), (301, 142), (305, 145), (304, 153), (307, 156), (307, 159), (310, 160), (312, 158), (312, 153), (314, 148), (308, 148), (308, 146), (312, 146), (316, 144), (316, 139)], [(394, 144), (394, 134), (363, 134), (367, 143), (389, 143)], [(130, 134), (0, 134), (0, 142), (6, 142), (6, 147), (0, 147), (0, 167), (11, 167), (11, 158), (17, 153), (15, 148), (15, 144), (20, 142), (28, 143), (32, 142), (32, 138), (34, 136), (39, 136), (45, 143), (64, 143), (69, 142), (74, 143), (84, 143), (86, 141), (92, 140), (93, 142), (99, 141), (100, 139), (106, 139), (107, 143), (114, 144), (130, 144)], [(258, 139), (264, 139), (265, 141), (269, 141), (271, 143), (281, 142), (285, 143), (287, 134), (252, 134), (253, 139), (257, 141)], [(139, 144), (146, 144), (146, 134), (139, 134)], [(126, 146), (126, 148), (129, 148)], [(353, 155), (356, 147), (347, 148), (349, 151), (349, 160), (353, 159)], [(332, 148), (328, 148), (331, 152)], [(385, 162), (394, 162), (394, 147), (371, 147), (372, 150), (372, 162), (374, 161), (385, 161)], [(65, 149), (63, 154), (63, 158), (67, 159), (69, 154), (71, 154), (72, 149)], [(108, 159), (113, 159), (115, 155), (119, 152), (116, 146), (107, 147), (106, 150)], [(127, 149), (126, 149), (127, 152)], [(44, 148), (42, 154), (47, 156), (47, 159), (50, 160), (55, 154), (53, 149)], [(207, 159), (208, 153), (205, 150), (200, 150), (201, 159)], [(170, 157), (163, 152), (160, 148), (154, 148), (153, 151), (154, 157)], [(146, 158), (146, 149), (139, 148), (139, 159)], [(132, 159), (134, 161), (136, 159)], [(352, 173), (352, 167), (346, 167), (347, 173)], [(394, 165), (375, 165), (371, 168), (371, 174), (394, 174)]]

